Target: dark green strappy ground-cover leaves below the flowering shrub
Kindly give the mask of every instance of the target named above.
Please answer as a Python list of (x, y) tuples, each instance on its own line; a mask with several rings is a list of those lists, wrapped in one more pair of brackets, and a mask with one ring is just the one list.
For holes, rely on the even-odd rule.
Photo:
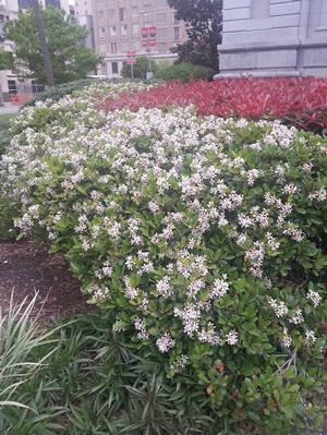
[(26, 408), (0, 411), (1, 434), (210, 433), (208, 398), (190, 372), (167, 382), (156, 350), (132, 347), (109, 321), (90, 314), (51, 326), (56, 342), (32, 352), (45, 363), (13, 396)]

